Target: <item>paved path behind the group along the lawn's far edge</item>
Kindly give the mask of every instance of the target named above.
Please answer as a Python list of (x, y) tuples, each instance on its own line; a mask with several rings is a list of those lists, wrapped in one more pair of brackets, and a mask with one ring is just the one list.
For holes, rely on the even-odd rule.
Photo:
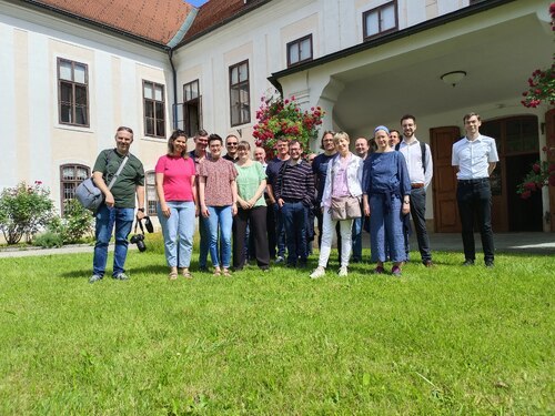
[[(364, 234), (364, 246), (370, 246), (370, 239)], [(494, 235), (495, 251), (497, 253), (534, 253), (555, 255), (555, 233), (497, 233)], [(480, 234), (475, 234), (476, 254), (482, 251)], [(430, 245), (432, 251), (462, 252), (463, 242), (460, 234), (430, 234)], [(130, 250), (137, 250), (134, 244), (129, 245)], [(416, 250), (417, 244), (414, 234), (411, 236), (411, 247)], [(110, 245), (113, 251), (113, 245)], [(54, 255), (72, 253), (91, 253), (92, 245), (69, 245), (61, 248), (34, 248), (27, 250), (0, 248), (0, 258), (3, 257), (26, 257), (32, 255)]]

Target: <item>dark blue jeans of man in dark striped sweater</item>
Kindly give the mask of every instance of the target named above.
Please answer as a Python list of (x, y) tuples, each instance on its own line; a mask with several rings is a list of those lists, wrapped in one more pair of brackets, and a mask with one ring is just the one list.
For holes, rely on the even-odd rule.
[(307, 207), (302, 202), (285, 202), (281, 207), (285, 241), (287, 243), (287, 264), (295, 265), (299, 258), (306, 263), (306, 221)]

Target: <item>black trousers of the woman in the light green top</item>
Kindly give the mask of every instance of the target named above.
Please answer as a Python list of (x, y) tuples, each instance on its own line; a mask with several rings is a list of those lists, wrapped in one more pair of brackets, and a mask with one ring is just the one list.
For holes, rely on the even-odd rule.
[(249, 224), (250, 232), (254, 236), (256, 264), (259, 267), (268, 267), (270, 264), (270, 253), (268, 247), (265, 206), (255, 206), (251, 210), (238, 209), (238, 214), (233, 217), (233, 267), (242, 268), (244, 266), (246, 224)]

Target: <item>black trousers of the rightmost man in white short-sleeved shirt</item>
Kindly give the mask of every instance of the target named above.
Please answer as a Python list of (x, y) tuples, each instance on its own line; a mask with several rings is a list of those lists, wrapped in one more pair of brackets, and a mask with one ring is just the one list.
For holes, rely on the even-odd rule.
[(477, 220), (482, 247), (484, 248), (484, 261), (494, 260), (494, 244), (492, 230), (492, 189), (490, 179), (477, 179), (458, 181), (456, 189), (456, 201), (461, 224), (463, 227), (464, 257), (476, 258), (474, 245), (474, 222)]

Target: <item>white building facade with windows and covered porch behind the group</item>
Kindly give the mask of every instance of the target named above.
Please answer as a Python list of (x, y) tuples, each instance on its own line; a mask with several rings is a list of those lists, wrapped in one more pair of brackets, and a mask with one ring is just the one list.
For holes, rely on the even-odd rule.
[[(61, 207), (128, 125), (153, 214), (152, 170), (171, 131), (252, 142), (261, 97), (278, 89), (322, 106), (323, 129), (352, 138), (414, 114), (437, 159), (427, 196), (436, 232), (458, 230), (451, 144), (464, 134), (463, 114), (478, 112), (502, 155), (494, 230), (555, 230), (555, 196), (544, 190), (526, 202), (514, 192), (526, 163), (555, 145), (553, 111), (519, 103), (529, 74), (552, 63), (548, 1), (210, 0), (154, 40), (110, 16), (83, 22), (79, 4), (69, 13), (60, 1), (30, 3), (0, 0), (0, 187), (41, 181)], [(454, 71), (464, 73), (455, 85), (442, 81)], [(534, 221), (523, 215), (531, 210)]]

